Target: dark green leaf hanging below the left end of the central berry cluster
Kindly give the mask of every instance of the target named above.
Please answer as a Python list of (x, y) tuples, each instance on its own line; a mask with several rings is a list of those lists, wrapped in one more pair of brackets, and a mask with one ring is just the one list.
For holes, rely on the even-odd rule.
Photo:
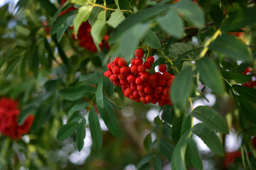
[(113, 108), (108, 104), (108, 103), (104, 103), (104, 108), (101, 108), (98, 103), (97, 104), (97, 109), (102, 117), (102, 119), (104, 120), (105, 124), (107, 125), (107, 129), (110, 130), (110, 132), (114, 135), (114, 136), (118, 136), (119, 135), (119, 127), (118, 127), (118, 123), (117, 123), (117, 117), (114, 113)]

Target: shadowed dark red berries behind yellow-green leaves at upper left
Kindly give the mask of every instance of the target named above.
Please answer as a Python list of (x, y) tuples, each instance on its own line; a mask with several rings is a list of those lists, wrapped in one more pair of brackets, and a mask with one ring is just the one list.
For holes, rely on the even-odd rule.
[[(60, 3), (60, 6), (62, 6), (65, 1), (67, 0), (62, 0)], [(67, 10), (63, 11), (60, 13), (59, 16), (62, 16), (64, 13), (68, 13), (69, 11), (73, 11), (73, 10), (78, 10), (77, 8), (75, 8), (74, 6), (68, 8)], [(80, 47), (84, 47), (85, 49), (89, 50), (90, 52), (97, 52), (97, 47), (95, 45), (95, 43), (93, 42), (92, 39), (92, 35), (90, 34), (90, 30), (91, 30), (91, 26), (90, 23), (88, 21), (83, 22), (81, 24), (81, 26), (78, 29), (78, 36), (77, 38), (75, 38), (75, 35), (73, 35), (74, 40), (79, 40), (79, 46)], [(73, 29), (73, 28), (71, 28)], [(110, 46), (108, 45), (108, 35), (104, 35), (102, 42), (99, 44), (100, 49), (102, 49), (102, 47), (106, 47), (106, 48), (110, 48)]]

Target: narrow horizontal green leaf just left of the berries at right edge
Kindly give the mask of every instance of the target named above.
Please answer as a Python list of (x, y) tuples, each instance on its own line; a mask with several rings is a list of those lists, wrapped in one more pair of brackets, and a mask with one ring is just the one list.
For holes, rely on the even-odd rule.
[(250, 74), (239, 74), (239, 73), (226, 72), (226, 71), (223, 71), (222, 74), (225, 79), (233, 79), (238, 84), (246, 83), (252, 78), (252, 75)]

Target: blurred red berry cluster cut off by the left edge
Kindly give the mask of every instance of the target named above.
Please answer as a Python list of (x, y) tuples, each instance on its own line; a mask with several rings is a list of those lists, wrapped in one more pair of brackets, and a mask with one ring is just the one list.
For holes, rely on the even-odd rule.
[(0, 132), (13, 140), (21, 139), (30, 130), (33, 123), (33, 115), (28, 115), (22, 125), (18, 125), (18, 103), (11, 98), (0, 99)]

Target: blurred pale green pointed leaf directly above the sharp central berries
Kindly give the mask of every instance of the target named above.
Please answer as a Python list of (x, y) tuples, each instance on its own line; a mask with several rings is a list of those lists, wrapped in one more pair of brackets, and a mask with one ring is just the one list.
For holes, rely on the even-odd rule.
[(159, 26), (175, 38), (181, 38), (183, 35), (183, 21), (178, 14), (171, 10), (166, 15), (156, 18)]

